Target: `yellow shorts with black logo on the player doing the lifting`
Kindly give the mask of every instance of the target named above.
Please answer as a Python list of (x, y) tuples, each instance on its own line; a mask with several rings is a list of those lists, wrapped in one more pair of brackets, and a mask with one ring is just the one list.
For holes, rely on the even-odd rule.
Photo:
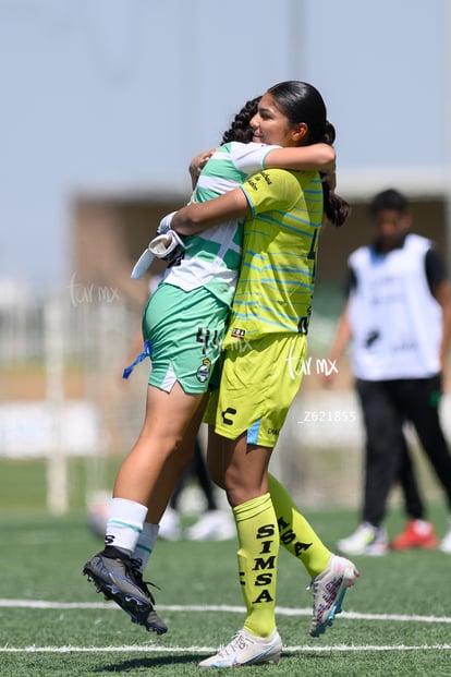
[(300, 389), (307, 353), (301, 334), (267, 335), (226, 350), (219, 395), (212, 392), (204, 420), (222, 437), (273, 448)]

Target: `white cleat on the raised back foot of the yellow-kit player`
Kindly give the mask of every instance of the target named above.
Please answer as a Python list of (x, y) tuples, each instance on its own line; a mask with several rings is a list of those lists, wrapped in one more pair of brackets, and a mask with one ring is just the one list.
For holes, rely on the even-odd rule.
[(348, 588), (355, 583), (359, 576), (355, 565), (338, 555), (331, 555), (329, 566), (310, 583), (313, 589), (314, 606), (309, 633), (319, 637), (328, 626), (332, 625), (336, 614), (340, 614), (341, 604)]

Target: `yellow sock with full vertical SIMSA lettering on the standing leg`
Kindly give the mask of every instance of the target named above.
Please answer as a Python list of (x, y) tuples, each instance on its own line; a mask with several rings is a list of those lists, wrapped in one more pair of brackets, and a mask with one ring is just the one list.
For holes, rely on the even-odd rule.
[(276, 629), (276, 580), (279, 533), (269, 494), (233, 508), (240, 549), (240, 582), (247, 615), (244, 628), (256, 637)]

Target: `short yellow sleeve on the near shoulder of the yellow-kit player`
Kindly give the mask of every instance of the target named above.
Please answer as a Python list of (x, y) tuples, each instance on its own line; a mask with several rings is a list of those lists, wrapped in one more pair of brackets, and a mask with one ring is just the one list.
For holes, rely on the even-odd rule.
[(246, 196), (253, 216), (275, 209), (289, 211), (297, 203), (301, 194), (297, 179), (285, 169), (260, 171), (240, 188)]

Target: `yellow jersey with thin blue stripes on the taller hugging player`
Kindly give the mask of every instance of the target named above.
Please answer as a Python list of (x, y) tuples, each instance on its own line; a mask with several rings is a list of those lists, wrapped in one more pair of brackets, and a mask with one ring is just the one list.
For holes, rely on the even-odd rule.
[(269, 169), (241, 189), (252, 208), (226, 346), (273, 333), (307, 334), (322, 221), (316, 171)]

